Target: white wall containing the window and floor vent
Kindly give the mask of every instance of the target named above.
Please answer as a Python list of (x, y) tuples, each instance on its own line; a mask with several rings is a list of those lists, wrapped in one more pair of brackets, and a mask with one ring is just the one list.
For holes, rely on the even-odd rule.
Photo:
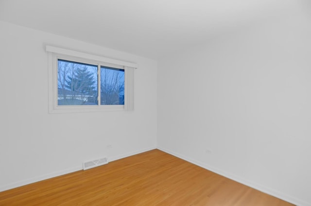
[[(0, 190), (156, 147), (156, 61), (1, 21), (0, 31)], [(48, 114), (45, 44), (137, 63), (135, 110)]]

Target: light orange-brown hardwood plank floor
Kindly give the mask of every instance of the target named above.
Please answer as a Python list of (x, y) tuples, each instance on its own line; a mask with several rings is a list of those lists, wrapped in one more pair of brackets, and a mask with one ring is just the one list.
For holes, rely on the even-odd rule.
[(0, 206), (293, 206), (152, 150), (0, 192)]

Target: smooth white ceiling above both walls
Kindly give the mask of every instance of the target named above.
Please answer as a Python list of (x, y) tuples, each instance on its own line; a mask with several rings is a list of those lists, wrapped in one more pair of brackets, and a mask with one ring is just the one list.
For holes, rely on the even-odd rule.
[(158, 59), (297, 0), (0, 0), (0, 20)]

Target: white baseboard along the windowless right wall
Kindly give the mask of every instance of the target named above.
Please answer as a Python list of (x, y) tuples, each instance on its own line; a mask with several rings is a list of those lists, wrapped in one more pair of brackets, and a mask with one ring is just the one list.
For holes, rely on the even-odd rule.
[(197, 166), (200, 166), (200, 167), (202, 167), (202, 168), (204, 168), (204, 169), (207, 169), (207, 170), (209, 170), (209, 171), (211, 171), (211, 172), (215, 172), (215, 173), (217, 173), (217, 174), (220, 174), (220, 175), (222, 175), (222, 176), (225, 176), (226, 178), (229, 178), (229, 179), (231, 179), (231, 180), (234, 180), (234, 181), (236, 181), (236, 182), (239, 182), (239, 183), (241, 183), (241, 184), (243, 184), (243, 185), (246, 185), (246, 186), (248, 186), (248, 187), (257, 189), (257, 190), (259, 190), (259, 191), (261, 191), (261, 192), (264, 192), (264, 193), (266, 193), (266, 194), (272, 195), (272, 196), (274, 196), (274, 197), (276, 197), (276, 198), (279, 198), (279, 199), (281, 199), (281, 200), (284, 200), (284, 201), (287, 201), (287, 202), (289, 202), (289, 203), (292, 203), (292, 204), (294, 204), (294, 205), (296, 205), (296, 206), (311, 206), (311, 203), (307, 203), (306, 201), (299, 200), (299, 199), (294, 198), (294, 197), (292, 197), (292, 196), (290, 196), (290, 195), (287, 195), (287, 194), (284, 194), (284, 193), (282, 193), (282, 192), (279, 192), (279, 191), (277, 191), (277, 190), (275, 190), (275, 189), (270, 189), (270, 188), (264, 187), (264, 186), (262, 186), (262, 185), (260, 185), (260, 184), (257, 184), (257, 183), (248, 181), (248, 180), (246, 180), (246, 179), (244, 179), (244, 178), (242, 178), (242, 177), (239, 177), (239, 176), (237, 176), (237, 175), (231, 174), (231, 173), (229, 173), (229, 172), (225, 172), (225, 171), (219, 170), (219, 169), (217, 169), (217, 168), (215, 168), (215, 167), (211, 167), (210, 165), (207, 165), (207, 164), (205, 164), (205, 163), (203, 163), (203, 162), (200, 162), (200, 161), (197, 161), (197, 160), (195, 160), (195, 159), (191, 159), (191, 158), (186, 157), (186, 156), (184, 156), (184, 155), (182, 155), (182, 154), (175, 153), (175, 152), (173, 152), (173, 151), (171, 151), (171, 150), (169, 150), (169, 149), (167, 149), (167, 148), (157, 147), (157, 149), (158, 149), (158, 150), (161, 150), (161, 151), (163, 151), (163, 152), (165, 152), (165, 153), (172, 154), (173, 156), (176, 156), (176, 157), (178, 157), (178, 158), (181, 158), (181, 159), (183, 159), (183, 160), (186, 160), (187, 162), (190, 162), (190, 163), (192, 163), (192, 164), (195, 164), (195, 165), (197, 165)]

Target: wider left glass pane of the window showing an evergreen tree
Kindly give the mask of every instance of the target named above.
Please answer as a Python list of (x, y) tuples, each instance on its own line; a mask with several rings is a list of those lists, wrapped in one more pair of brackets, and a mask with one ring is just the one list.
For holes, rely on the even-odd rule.
[(97, 105), (97, 65), (58, 59), (58, 105)]

